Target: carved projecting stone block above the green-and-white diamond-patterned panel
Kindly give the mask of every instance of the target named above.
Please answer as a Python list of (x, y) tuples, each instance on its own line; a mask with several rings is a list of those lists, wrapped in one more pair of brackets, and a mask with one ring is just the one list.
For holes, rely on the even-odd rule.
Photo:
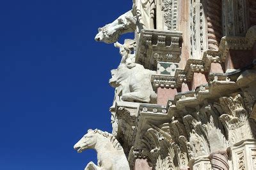
[(157, 61), (180, 61), (182, 32), (144, 29), (138, 41), (136, 63), (146, 69), (156, 70)]

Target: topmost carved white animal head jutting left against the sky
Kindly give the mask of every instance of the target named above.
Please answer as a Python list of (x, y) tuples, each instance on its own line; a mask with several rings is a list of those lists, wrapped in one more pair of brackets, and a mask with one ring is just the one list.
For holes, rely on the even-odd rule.
[(98, 29), (99, 33), (95, 36), (95, 41), (103, 41), (104, 43), (115, 43), (121, 34), (134, 32), (136, 29), (136, 17), (132, 11), (124, 13), (111, 24)]

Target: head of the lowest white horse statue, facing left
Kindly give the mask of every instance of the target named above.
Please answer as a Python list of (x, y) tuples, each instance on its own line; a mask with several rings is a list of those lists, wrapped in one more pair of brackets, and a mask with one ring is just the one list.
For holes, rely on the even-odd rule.
[(76, 145), (74, 145), (74, 149), (77, 150), (78, 153), (83, 152), (86, 149), (94, 148), (97, 143), (97, 129), (94, 131), (89, 129), (87, 134), (81, 138)]

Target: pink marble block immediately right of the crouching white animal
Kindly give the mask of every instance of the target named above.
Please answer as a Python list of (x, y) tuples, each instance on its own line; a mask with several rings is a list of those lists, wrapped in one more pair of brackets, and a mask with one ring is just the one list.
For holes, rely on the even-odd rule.
[(157, 89), (157, 104), (165, 106), (169, 99), (174, 99), (177, 94), (177, 89), (166, 89), (158, 87)]

